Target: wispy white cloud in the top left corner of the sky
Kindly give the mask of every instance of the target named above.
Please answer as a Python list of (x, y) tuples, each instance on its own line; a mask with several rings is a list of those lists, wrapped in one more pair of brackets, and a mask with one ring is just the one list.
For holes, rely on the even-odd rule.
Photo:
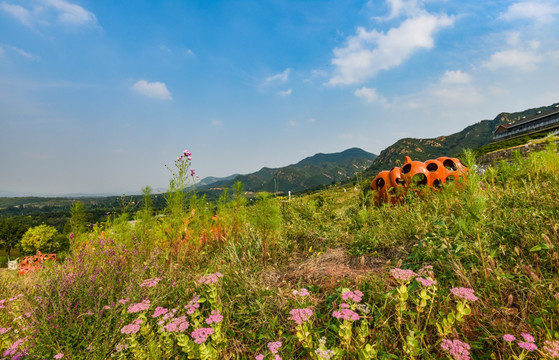
[(80, 5), (65, 0), (41, 0), (37, 1), (33, 8), (2, 1), (0, 10), (29, 27), (53, 22), (77, 27), (98, 25), (95, 14)]

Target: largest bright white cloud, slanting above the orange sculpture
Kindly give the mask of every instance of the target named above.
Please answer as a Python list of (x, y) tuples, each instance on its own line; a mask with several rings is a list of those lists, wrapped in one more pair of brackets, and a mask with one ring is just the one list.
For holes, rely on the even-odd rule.
[(433, 48), (435, 33), (453, 24), (452, 16), (423, 11), (386, 33), (359, 27), (357, 34), (347, 39), (345, 47), (334, 49), (332, 64), (337, 69), (327, 84), (359, 84), (381, 70), (398, 66), (414, 52)]

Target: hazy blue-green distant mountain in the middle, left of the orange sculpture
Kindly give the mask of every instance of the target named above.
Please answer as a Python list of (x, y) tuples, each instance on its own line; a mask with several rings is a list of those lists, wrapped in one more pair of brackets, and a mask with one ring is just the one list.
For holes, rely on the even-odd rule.
[(254, 173), (237, 175), (233, 179), (198, 185), (200, 191), (222, 190), (241, 181), (246, 191), (298, 192), (312, 187), (347, 180), (373, 164), (377, 155), (359, 148), (339, 153), (319, 153), (296, 164), (281, 168), (264, 167)]

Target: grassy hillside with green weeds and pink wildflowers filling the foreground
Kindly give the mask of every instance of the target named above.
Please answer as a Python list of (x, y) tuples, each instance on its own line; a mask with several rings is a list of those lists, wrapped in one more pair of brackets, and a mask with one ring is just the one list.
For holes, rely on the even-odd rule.
[[(8, 359), (559, 357), (559, 155), (516, 156), (400, 205), (368, 188), (291, 201), (242, 184), (149, 201), (0, 273)], [(473, 169), (472, 153), (465, 156)], [(18, 357), (20, 356), (20, 357)]]

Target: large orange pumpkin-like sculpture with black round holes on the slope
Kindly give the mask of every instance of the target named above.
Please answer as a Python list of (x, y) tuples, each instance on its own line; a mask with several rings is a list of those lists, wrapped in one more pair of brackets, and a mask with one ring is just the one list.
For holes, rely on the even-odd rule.
[(393, 167), (389, 171), (381, 171), (371, 183), (375, 190), (375, 202), (401, 201), (407, 189), (412, 185), (423, 185), (431, 189), (438, 189), (444, 183), (465, 179), (468, 168), (460, 160), (450, 157), (440, 157), (425, 162), (412, 161), (409, 156), (404, 157), (404, 165)]

